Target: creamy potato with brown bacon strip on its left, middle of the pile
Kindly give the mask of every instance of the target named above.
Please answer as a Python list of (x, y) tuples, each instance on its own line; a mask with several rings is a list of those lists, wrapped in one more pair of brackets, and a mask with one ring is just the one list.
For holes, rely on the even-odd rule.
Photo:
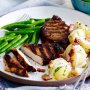
[(65, 50), (65, 58), (75, 68), (86, 64), (87, 54), (79, 44), (70, 44)]

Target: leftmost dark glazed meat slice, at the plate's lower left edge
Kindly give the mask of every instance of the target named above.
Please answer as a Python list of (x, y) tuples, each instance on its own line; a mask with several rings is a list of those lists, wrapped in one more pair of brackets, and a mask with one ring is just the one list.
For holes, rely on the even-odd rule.
[(14, 60), (10, 55), (5, 55), (4, 58), (5, 70), (11, 73), (15, 73), (19, 76), (28, 77), (26, 69), (20, 65), (17, 60)]

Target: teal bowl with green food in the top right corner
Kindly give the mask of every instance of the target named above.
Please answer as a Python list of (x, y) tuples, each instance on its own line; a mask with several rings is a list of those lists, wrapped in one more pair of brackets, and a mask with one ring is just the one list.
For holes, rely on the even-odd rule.
[(76, 10), (90, 14), (90, 0), (71, 0), (71, 2)]

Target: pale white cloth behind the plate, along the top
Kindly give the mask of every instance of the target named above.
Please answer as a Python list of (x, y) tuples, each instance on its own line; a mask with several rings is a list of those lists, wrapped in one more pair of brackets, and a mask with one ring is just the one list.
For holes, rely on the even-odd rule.
[[(54, 0), (55, 1), (55, 0)], [(32, 6), (61, 6), (73, 9), (71, 0), (65, 0), (63, 5), (56, 4), (52, 0), (0, 0), (0, 16), (5, 15), (11, 11)]]

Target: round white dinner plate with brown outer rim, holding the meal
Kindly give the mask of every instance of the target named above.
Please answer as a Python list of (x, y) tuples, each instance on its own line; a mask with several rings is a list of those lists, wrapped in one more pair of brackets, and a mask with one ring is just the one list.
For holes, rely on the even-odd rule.
[[(48, 18), (53, 15), (58, 15), (64, 20), (68, 25), (75, 23), (76, 21), (80, 21), (88, 26), (90, 26), (90, 17), (86, 14), (80, 13), (75, 10), (69, 10), (60, 7), (52, 7), (52, 6), (42, 6), (42, 7), (32, 7), (25, 8), (22, 10), (18, 10), (12, 13), (9, 13), (0, 18), (0, 27), (18, 20), (23, 14), (28, 14), (31, 18)], [(2, 33), (0, 32), (0, 36)], [(1, 55), (2, 57), (2, 55)], [(39, 65), (36, 65), (36, 67)], [(42, 66), (39, 66), (42, 67)], [(46, 68), (46, 67), (42, 67)], [(73, 77), (66, 80), (61, 81), (42, 81), (41, 75), (42, 73), (31, 73), (30, 78), (20, 77), (15, 74), (11, 74), (4, 71), (3, 60), (0, 59), (0, 75), (4, 78), (12, 80), (14, 82), (23, 83), (23, 84), (31, 84), (31, 85), (43, 85), (43, 86), (58, 86), (63, 84), (70, 84), (77, 80), (77, 77)]]

